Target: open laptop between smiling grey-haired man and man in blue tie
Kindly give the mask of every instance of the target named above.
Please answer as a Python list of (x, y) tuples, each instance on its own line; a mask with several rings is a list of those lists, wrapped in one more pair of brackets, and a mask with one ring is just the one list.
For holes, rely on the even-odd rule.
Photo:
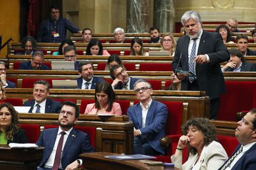
[(76, 79), (53, 79), (53, 89), (77, 89)]

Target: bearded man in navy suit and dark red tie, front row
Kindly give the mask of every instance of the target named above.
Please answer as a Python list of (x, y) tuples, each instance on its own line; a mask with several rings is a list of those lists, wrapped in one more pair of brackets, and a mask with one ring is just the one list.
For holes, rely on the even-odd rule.
[(73, 102), (64, 102), (59, 113), (59, 127), (46, 129), (36, 142), (45, 147), (38, 169), (78, 168), (82, 165), (79, 155), (94, 152), (88, 135), (73, 128), (78, 118), (79, 107)]

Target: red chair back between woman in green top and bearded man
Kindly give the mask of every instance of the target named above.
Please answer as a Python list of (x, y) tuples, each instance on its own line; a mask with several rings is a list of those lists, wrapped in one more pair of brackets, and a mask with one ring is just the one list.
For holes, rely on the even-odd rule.
[(40, 125), (38, 124), (20, 124), (20, 128), (25, 130), (25, 136), (28, 143), (35, 144), (40, 136)]

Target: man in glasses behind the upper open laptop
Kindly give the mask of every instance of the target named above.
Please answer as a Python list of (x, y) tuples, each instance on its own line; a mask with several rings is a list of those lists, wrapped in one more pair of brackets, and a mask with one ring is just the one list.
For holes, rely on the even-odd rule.
[(74, 70), (78, 70), (79, 62), (77, 61), (77, 49), (74, 46), (67, 46), (64, 48), (65, 61), (74, 62)]

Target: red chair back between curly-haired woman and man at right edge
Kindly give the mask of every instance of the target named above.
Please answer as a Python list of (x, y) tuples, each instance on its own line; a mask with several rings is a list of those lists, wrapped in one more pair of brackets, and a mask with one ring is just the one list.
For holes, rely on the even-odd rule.
[(236, 149), (239, 142), (237, 141), (236, 137), (234, 136), (224, 136), (224, 135), (217, 135), (220, 144), (226, 150), (228, 156), (230, 156), (234, 150)]

